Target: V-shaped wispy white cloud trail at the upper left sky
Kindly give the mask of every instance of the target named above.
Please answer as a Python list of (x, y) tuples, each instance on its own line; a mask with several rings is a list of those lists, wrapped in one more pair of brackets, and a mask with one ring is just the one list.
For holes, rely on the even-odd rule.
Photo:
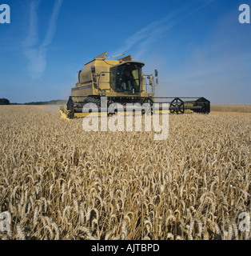
[(46, 54), (54, 38), (62, 2), (63, 0), (56, 0), (54, 10), (50, 16), (46, 37), (40, 46), (38, 46), (38, 7), (41, 0), (30, 2), (29, 30), (22, 46), (24, 54), (29, 61), (28, 69), (30, 71), (30, 77), (33, 79), (41, 78), (43, 72), (46, 70)]

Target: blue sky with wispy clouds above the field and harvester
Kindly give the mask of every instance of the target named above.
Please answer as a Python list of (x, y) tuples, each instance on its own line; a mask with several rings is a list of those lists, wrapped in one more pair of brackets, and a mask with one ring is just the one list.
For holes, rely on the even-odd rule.
[(159, 71), (158, 96), (251, 103), (249, 0), (0, 0), (0, 98), (67, 99), (76, 72), (107, 51)]

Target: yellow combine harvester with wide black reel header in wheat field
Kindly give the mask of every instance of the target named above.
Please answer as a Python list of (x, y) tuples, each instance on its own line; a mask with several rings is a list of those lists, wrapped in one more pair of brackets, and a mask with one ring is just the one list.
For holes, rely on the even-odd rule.
[[(98, 113), (102, 109), (102, 98), (106, 98), (107, 114), (115, 114), (117, 109), (108, 111), (110, 104), (120, 103), (125, 108), (131, 103), (135, 106), (143, 106), (149, 103), (151, 111), (154, 111), (154, 103), (159, 103), (160, 112), (163, 103), (169, 103), (169, 113), (201, 113), (209, 114), (210, 102), (203, 97), (154, 97), (157, 86), (157, 70), (153, 74), (145, 75), (142, 62), (134, 62), (131, 55), (118, 60), (110, 60), (117, 56), (106, 58), (107, 53), (98, 55), (91, 62), (86, 63), (83, 70), (77, 73), (76, 86), (71, 89), (71, 96), (66, 107), (60, 108), (63, 118), (86, 117), (90, 113), (89, 108), (84, 108), (87, 103), (98, 106)], [(139, 105), (140, 104), (140, 105)], [(142, 108), (139, 108), (144, 114)], [(133, 107), (133, 110), (136, 110)]]

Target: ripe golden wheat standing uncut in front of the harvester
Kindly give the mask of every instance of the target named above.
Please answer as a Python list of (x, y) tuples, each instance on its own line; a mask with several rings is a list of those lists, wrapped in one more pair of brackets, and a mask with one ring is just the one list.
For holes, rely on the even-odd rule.
[(170, 115), (154, 141), (85, 132), (57, 107), (0, 113), (1, 239), (250, 239), (250, 114)]

